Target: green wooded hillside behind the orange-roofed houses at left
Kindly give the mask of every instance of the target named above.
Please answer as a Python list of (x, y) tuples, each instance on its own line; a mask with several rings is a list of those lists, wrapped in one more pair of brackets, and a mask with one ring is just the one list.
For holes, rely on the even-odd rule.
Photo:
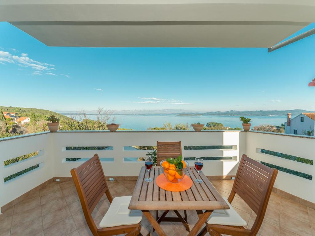
[(67, 117), (65, 115), (61, 115), (60, 113), (50, 111), (50, 110), (37, 109), (37, 108), (0, 106), (0, 109), (2, 109), (3, 111), (8, 111), (8, 112), (17, 112), (17, 113), (19, 113), (19, 116), (26, 116), (26, 117), (29, 117), (31, 115), (31, 112), (34, 112), (35, 115), (39, 116), (43, 120), (46, 120), (46, 118), (50, 115), (55, 115), (56, 117), (59, 117), (60, 120), (69, 119), (69, 117)]

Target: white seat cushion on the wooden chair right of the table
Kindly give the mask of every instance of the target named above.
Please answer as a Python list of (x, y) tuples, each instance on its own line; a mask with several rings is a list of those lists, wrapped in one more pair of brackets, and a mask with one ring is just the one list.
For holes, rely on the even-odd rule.
[(214, 225), (232, 225), (232, 226), (247, 226), (246, 221), (233, 209), (229, 201), (223, 197), (226, 203), (230, 206), (228, 210), (214, 210), (208, 218), (208, 224)]

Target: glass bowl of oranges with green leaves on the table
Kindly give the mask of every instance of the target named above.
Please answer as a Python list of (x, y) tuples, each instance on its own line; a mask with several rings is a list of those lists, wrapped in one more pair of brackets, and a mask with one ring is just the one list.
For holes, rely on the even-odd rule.
[(188, 162), (182, 156), (167, 158), (160, 162), (161, 169), (170, 183), (179, 183), (185, 176)]

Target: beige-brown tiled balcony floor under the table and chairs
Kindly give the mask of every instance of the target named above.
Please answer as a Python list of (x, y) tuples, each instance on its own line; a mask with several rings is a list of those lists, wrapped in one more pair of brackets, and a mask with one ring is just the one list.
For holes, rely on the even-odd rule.
[[(136, 181), (109, 181), (113, 197), (132, 195)], [(232, 181), (211, 181), (222, 196), (228, 196)], [(254, 223), (255, 213), (235, 197), (232, 205), (249, 226)], [(96, 225), (106, 213), (109, 202), (106, 197), (100, 199), (93, 212)], [(154, 214), (154, 212), (152, 212)], [(169, 212), (169, 214), (174, 214)], [(0, 221), (0, 236), (85, 236), (89, 231), (76, 189), (72, 181), (52, 182), (45, 188), (33, 193), (3, 212)], [(198, 220), (194, 211), (188, 211), (189, 224), (192, 227)], [(144, 217), (141, 233), (146, 235), (150, 224)], [(180, 222), (161, 223), (167, 235), (187, 235)], [(155, 234), (156, 235), (156, 234)], [(315, 236), (315, 210), (290, 199), (272, 193), (260, 236)]]

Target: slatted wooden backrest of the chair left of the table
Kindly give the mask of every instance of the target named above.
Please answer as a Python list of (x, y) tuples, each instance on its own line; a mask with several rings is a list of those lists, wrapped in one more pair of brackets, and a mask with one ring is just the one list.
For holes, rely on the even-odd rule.
[(108, 190), (99, 156), (95, 154), (82, 165), (73, 168), (71, 175), (77, 188), (86, 222), (93, 235), (98, 235), (97, 227), (91, 214), (104, 194), (112, 202), (112, 195)]

